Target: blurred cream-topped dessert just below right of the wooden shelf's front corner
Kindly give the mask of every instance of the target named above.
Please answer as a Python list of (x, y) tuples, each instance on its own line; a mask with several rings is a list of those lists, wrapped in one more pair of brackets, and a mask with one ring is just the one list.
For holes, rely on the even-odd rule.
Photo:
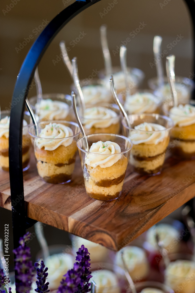
[(146, 279), (149, 274), (149, 262), (144, 249), (137, 246), (126, 246), (116, 254), (116, 264), (124, 269), (121, 252), (128, 272), (134, 282)]

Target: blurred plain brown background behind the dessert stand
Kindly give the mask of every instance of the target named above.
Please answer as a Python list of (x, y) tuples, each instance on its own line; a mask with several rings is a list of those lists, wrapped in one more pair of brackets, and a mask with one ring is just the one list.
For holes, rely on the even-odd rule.
[[(16, 4), (13, 4), (16, 3)], [(3, 110), (9, 106), (16, 77), (22, 62), (43, 30), (43, 25), (52, 20), (60, 11), (73, 3), (69, 0), (1, 0), (0, 2), (0, 105)], [(113, 3), (114, 6), (113, 6)], [(10, 5), (13, 4), (13, 5)], [(108, 6), (113, 6), (107, 10)], [(10, 6), (12, 8), (10, 8)], [(139, 33), (140, 23), (142, 29)], [(69, 56), (78, 58), (80, 79), (87, 78), (93, 70), (103, 67), (99, 27), (108, 27), (108, 42), (113, 65), (119, 65), (117, 48), (127, 45), (128, 66), (144, 71), (146, 78), (142, 88), (147, 88), (147, 80), (156, 76), (153, 64), (153, 37), (163, 37), (162, 50), (176, 55), (175, 71), (179, 76), (189, 77), (192, 68), (191, 20), (187, 7), (182, 0), (102, 0), (80, 13), (56, 36), (39, 64), (39, 76), (43, 93), (70, 93), (72, 83), (60, 56), (59, 42), (65, 40), (70, 48)], [(83, 35), (83, 38), (79, 36)], [(180, 36), (180, 41), (178, 40)], [(126, 43), (125, 40), (130, 38)], [(25, 44), (25, 45), (22, 45)], [(166, 56), (166, 55), (165, 55)], [(165, 57), (163, 58), (165, 69)], [(36, 94), (35, 86), (29, 97)], [(177, 214), (177, 211), (175, 212)], [(11, 227), (11, 212), (0, 208), (0, 236), (4, 224)], [(32, 227), (30, 229), (34, 231)], [(10, 229), (11, 231), (11, 229)], [(68, 234), (64, 231), (46, 226), (44, 228), (50, 244), (69, 244)], [(12, 245), (10, 235), (10, 245)], [(37, 253), (38, 243), (32, 240), (32, 255)], [(10, 247), (11, 248), (11, 247)], [(13, 265), (10, 264), (10, 265)]]

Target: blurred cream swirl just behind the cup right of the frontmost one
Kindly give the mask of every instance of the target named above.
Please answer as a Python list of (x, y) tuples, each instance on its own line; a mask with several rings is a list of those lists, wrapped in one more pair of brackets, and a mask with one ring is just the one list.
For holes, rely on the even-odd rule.
[(135, 93), (127, 96), (124, 108), (129, 114), (153, 113), (158, 107), (159, 101), (152, 93)]

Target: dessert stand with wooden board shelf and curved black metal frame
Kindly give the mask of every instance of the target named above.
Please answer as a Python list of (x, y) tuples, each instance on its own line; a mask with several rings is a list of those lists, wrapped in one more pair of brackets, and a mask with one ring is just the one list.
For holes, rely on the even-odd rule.
[[(37, 174), (34, 158), (23, 174), (22, 121), (28, 87), (44, 52), (57, 33), (74, 16), (100, 0), (77, 0), (59, 13), (32, 45), (18, 74), (13, 93), (20, 101), (11, 110), (9, 174), (0, 171), (0, 206), (12, 209), (14, 247), (35, 222), (68, 231), (115, 251), (149, 229), (195, 196), (194, 161), (168, 158), (161, 175), (141, 176), (127, 169), (123, 192), (111, 202), (87, 196), (80, 160), (77, 158), (72, 183), (52, 185)], [(195, 2), (184, 1), (195, 32)], [(195, 56), (195, 37), (194, 37)], [(195, 66), (194, 66), (195, 68)]]

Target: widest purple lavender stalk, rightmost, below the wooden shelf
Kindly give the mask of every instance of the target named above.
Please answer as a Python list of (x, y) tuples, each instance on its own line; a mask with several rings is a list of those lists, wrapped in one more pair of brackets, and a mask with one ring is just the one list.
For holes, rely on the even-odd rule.
[(84, 245), (77, 252), (76, 263), (74, 267), (64, 275), (61, 285), (58, 288), (58, 293), (87, 293), (91, 291), (89, 286), (90, 278), (92, 277), (90, 268), (90, 257), (87, 248)]

